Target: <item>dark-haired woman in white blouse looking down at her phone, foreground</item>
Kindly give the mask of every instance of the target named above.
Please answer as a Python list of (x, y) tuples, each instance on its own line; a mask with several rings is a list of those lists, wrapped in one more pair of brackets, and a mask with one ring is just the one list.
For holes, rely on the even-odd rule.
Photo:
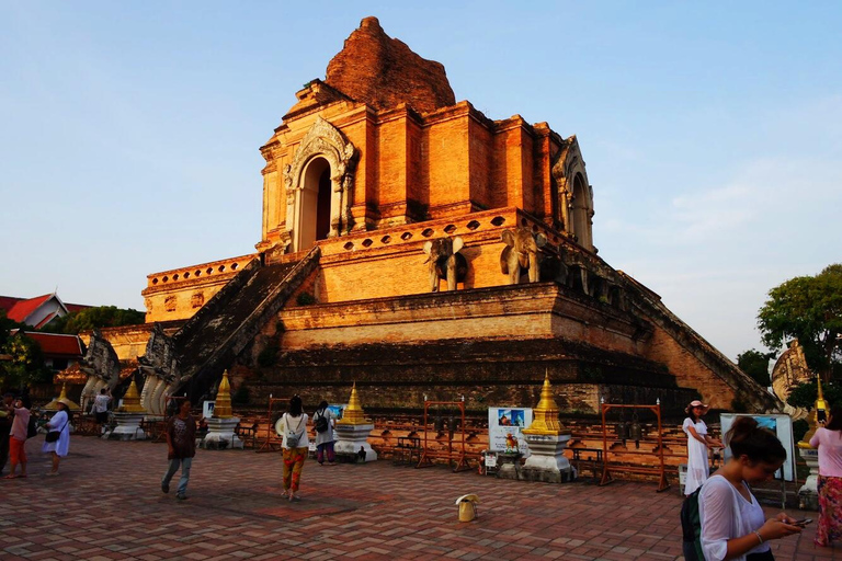
[(731, 457), (702, 486), (698, 512), (707, 561), (773, 561), (769, 540), (801, 531), (784, 513), (765, 519), (749, 485), (771, 479), (786, 460), (777, 437), (749, 416), (740, 416), (726, 436)]

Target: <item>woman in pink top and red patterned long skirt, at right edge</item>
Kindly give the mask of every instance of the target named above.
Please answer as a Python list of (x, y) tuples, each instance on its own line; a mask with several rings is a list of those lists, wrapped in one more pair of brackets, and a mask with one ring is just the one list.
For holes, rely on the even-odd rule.
[(810, 446), (819, 449), (819, 527), (816, 545), (827, 547), (842, 538), (842, 408), (834, 407)]

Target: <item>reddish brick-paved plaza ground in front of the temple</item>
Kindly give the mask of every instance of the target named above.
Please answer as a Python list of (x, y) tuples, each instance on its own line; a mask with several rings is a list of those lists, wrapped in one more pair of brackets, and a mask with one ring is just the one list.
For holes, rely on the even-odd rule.
[[(200, 450), (190, 500), (178, 502), (175, 480), (160, 491), (162, 444), (73, 436), (61, 476), (49, 478), (43, 439), (27, 444), (29, 479), (0, 481), (0, 559), (681, 559), (681, 500), (653, 484), (308, 460), (304, 500), (291, 504), (278, 454)], [(454, 501), (469, 492), (482, 501), (479, 518), (460, 524)], [(815, 524), (776, 541), (776, 559), (842, 559), (813, 536)]]

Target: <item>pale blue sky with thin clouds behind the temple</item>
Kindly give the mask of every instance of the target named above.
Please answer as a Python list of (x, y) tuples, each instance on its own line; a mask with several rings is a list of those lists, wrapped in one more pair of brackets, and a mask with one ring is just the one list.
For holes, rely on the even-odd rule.
[(729, 357), (842, 261), (842, 2), (405, 4), (0, 0), (0, 295), (144, 309), (147, 274), (253, 252), (258, 149), (366, 15), (576, 134), (600, 255)]

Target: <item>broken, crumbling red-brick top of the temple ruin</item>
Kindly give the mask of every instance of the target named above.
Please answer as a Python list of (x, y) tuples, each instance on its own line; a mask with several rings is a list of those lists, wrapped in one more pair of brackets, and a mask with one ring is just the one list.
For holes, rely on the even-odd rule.
[(377, 18), (365, 18), (328, 64), (325, 82), (380, 111), (401, 103), (420, 113), (456, 103), (444, 66), (386, 35)]

